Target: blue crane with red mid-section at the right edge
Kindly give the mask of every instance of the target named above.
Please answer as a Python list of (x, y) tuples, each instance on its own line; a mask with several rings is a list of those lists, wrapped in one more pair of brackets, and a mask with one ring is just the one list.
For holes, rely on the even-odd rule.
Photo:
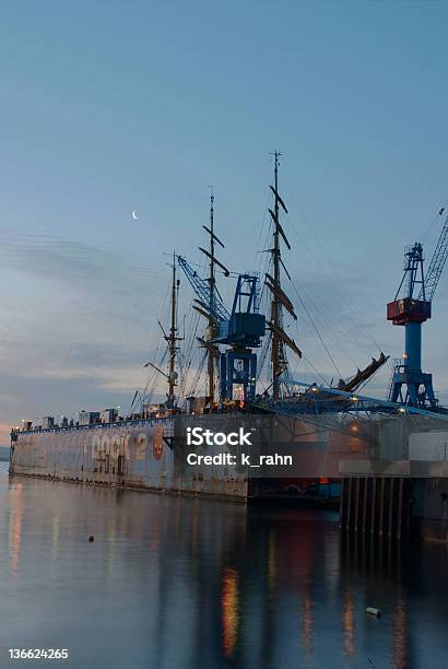
[[(444, 213), (440, 209), (439, 215)], [(393, 302), (387, 305), (387, 319), (404, 326), (405, 343), (402, 361), (396, 363), (389, 400), (413, 407), (437, 407), (433, 375), (422, 372), (422, 324), (432, 316), (432, 302), (448, 257), (448, 216), (424, 273), (423, 246), (415, 243), (405, 249), (404, 274)], [(403, 294), (399, 297), (403, 289)]]

